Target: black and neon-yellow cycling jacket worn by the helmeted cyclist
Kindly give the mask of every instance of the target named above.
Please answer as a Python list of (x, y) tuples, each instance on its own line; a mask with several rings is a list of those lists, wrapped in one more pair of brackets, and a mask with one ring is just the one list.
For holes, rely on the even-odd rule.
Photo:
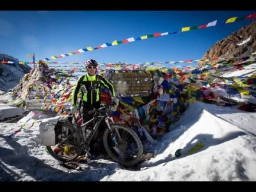
[(95, 102), (100, 102), (100, 85), (108, 88), (112, 96), (115, 97), (115, 89), (107, 79), (97, 74), (94, 76), (86, 74), (85, 76), (79, 77), (72, 92), (72, 106), (76, 105), (77, 93), (83, 85), (86, 87), (87, 93), (82, 92), (82, 98), (87, 104), (93, 105)]

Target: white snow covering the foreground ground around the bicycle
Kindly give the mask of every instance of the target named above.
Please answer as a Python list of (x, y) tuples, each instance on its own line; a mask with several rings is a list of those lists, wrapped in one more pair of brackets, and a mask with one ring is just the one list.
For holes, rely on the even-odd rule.
[[(4, 115), (9, 113), (3, 106), (0, 110)], [(19, 113), (17, 110), (12, 109), (13, 113)], [(100, 158), (81, 163), (76, 170), (64, 168), (40, 144), (39, 124), (42, 118), (48, 117), (39, 118), (28, 128), (37, 117), (31, 112), (17, 123), (0, 122), (0, 180), (256, 180), (256, 113), (241, 111), (237, 106), (194, 102), (156, 144), (145, 146), (154, 152), (154, 157), (141, 163), (137, 171), (125, 170), (113, 161)], [(9, 137), (24, 122), (25, 129), (15, 138)], [(177, 149), (188, 149), (197, 140), (204, 142), (205, 147), (193, 154), (174, 156)]]

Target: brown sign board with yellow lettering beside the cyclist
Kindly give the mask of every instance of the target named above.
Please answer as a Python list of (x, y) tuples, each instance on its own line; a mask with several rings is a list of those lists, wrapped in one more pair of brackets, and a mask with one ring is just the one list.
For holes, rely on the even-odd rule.
[(145, 70), (110, 70), (109, 81), (118, 97), (147, 97), (153, 93), (153, 73)]

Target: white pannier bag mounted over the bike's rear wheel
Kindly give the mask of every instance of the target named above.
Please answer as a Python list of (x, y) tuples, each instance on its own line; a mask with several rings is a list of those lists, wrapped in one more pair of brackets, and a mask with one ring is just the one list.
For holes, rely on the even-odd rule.
[(39, 125), (41, 144), (54, 146), (61, 141), (61, 134), (67, 134), (61, 122), (67, 121), (68, 115), (45, 118)]

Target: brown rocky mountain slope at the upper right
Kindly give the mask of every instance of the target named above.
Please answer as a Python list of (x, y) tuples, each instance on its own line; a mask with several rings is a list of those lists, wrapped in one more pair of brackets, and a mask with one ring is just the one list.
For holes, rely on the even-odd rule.
[(256, 51), (256, 19), (212, 45), (202, 60), (248, 56)]

